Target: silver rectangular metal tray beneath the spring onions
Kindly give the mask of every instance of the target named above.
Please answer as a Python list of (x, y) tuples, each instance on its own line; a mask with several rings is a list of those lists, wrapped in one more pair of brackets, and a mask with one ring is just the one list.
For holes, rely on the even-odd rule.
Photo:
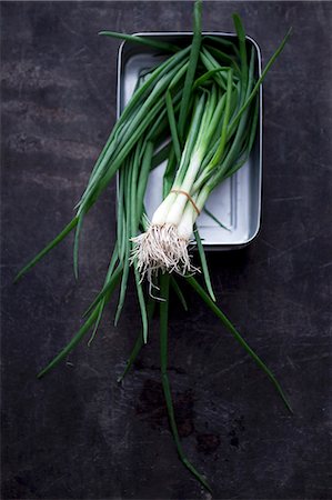
[[(192, 33), (135, 33), (141, 37), (153, 37), (171, 43), (190, 43)], [(232, 39), (234, 33), (203, 32)], [(255, 67), (261, 74), (261, 51), (258, 43), (247, 37), (247, 43), (253, 44), (256, 53)], [(157, 62), (164, 60), (158, 50), (125, 41), (120, 46), (118, 54), (118, 118), (129, 101), (140, 73), (149, 70)], [(221, 228), (211, 217), (202, 212), (197, 224), (205, 250), (232, 250), (241, 248), (253, 240), (260, 229), (261, 219), (261, 182), (262, 182), (262, 88), (260, 89), (260, 113), (255, 141), (248, 162), (227, 179), (210, 196), (207, 209), (229, 230)], [(145, 208), (148, 217), (161, 202), (162, 176), (165, 164), (154, 169), (149, 178)]]

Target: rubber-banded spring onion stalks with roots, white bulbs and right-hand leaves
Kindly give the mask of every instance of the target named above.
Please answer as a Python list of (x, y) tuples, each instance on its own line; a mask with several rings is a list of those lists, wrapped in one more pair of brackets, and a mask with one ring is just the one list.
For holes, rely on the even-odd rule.
[[(207, 48), (200, 51), (202, 64), (214, 78), (200, 77), (193, 84), (191, 124), (175, 179), (148, 230), (132, 239), (132, 261), (137, 262), (141, 278), (147, 276), (149, 282), (153, 282), (159, 271), (187, 276), (198, 270), (189, 256), (195, 220), (213, 189), (245, 163), (254, 142), (258, 90), (266, 70), (261, 78), (255, 78), (254, 48), (248, 61), (241, 20), (237, 14), (233, 20), (240, 46), (240, 68), (238, 64), (220, 67)], [(288, 36), (269, 67), (286, 39)]]

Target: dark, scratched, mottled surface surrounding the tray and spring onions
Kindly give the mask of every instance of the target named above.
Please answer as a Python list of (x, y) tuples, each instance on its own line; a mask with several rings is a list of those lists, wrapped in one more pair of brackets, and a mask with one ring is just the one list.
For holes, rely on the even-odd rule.
[[(272, 368), (294, 408), (203, 303), (173, 302), (170, 376), (182, 442), (218, 499), (328, 499), (331, 328), (331, 2), (205, 2), (272, 54), (264, 84), (262, 228), (245, 250), (209, 258), (219, 303)], [(134, 372), (133, 288), (119, 328), (108, 309), (44, 380), (102, 283), (114, 242), (114, 186), (89, 214), (81, 274), (69, 237), (19, 284), (19, 268), (70, 220), (115, 118), (115, 40), (191, 30), (192, 2), (1, 2), (2, 498), (207, 499), (178, 461), (159, 376), (158, 324)], [(330, 482), (331, 484), (331, 482)], [(330, 493), (329, 493), (330, 491)]]

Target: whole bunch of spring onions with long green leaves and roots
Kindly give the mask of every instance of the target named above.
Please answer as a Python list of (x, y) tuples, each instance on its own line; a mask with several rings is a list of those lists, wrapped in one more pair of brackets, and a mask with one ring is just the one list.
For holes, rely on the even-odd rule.
[[(248, 346), (215, 304), (207, 259), (195, 220), (212, 192), (248, 160), (259, 114), (258, 91), (269, 68), (282, 51), (289, 34), (258, 77), (253, 49), (249, 50), (239, 16), (233, 16), (238, 37), (233, 41), (202, 36), (201, 1), (193, 11), (193, 37), (188, 47), (103, 31), (164, 52), (162, 63), (141, 74), (137, 88), (98, 158), (77, 214), (17, 276), (21, 278), (53, 247), (76, 229), (73, 267), (78, 277), (79, 236), (84, 217), (118, 173), (117, 241), (104, 284), (84, 313), (84, 323), (62, 351), (38, 374), (47, 374), (92, 331), (95, 336), (104, 308), (119, 287), (115, 324), (119, 321), (130, 272), (134, 274), (142, 318), (123, 379), (148, 340), (155, 306), (160, 309), (160, 360), (170, 427), (179, 457), (197, 479), (205, 479), (183, 453), (175, 423), (168, 379), (168, 316), (170, 287), (187, 309), (179, 280), (185, 280), (274, 384), (286, 408), (285, 396), (273, 373)], [(144, 194), (150, 172), (167, 162), (163, 201), (149, 221)], [(195, 279), (188, 246), (195, 238), (207, 290)], [(147, 278), (147, 279), (145, 279)], [(157, 291), (154, 289), (158, 289)], [(158, 294), (155, 298), (154, 294)]]

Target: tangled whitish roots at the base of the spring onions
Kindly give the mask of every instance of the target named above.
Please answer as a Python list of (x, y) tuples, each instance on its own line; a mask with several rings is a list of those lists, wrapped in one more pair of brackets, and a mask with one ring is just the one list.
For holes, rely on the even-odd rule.
[(131, 262), (135, 262), (141, 281), (147, 277), (153, 286), (153, 277), (158, 271), (182, 276), (199, 271), (192, 266), (189, 256), (191, 241), (180, 238), (173, 224), (151, 223), (147, 232), (132, 238), (131, 241), (134, 243)]

